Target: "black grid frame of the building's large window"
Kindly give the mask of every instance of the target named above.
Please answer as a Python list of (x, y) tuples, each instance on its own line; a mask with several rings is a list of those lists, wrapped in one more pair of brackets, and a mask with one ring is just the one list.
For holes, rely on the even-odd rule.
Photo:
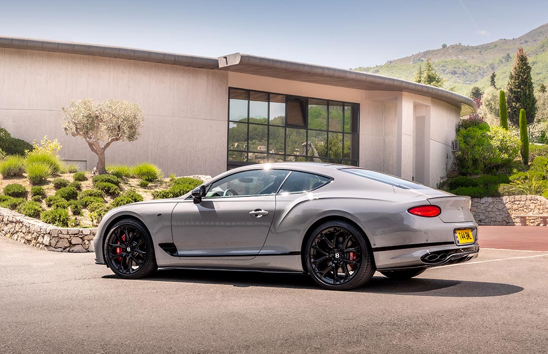
[[(247, 91), (248, 92), (248, 104), (247, 104), (247, 120), (245, 122), (243, 121), (232, 121), (230, 120), (230, 90), (231, 89), (235, 89), (235, 90), (242, 90), (242, 91)], [(266, 123), (256, 123), (256, 122), (251, 122), (251, 117), (249, 117), (249, 109), (250, 109), (250, 102), (251, 102), (251, 93), (252, 92), (260, 92), (260, 93), (266, 93), (268, 95), (268, 102), (267, 102), (267, 118), (266, 118)], [(284, 123), (285, 125), (284, 126), (280, 126), (280, 125), (276, 125), (276, 124), (271, 124), (271, 117), (270, 117), (270, 105), (271, 105), (271, 99), (270, 99), (270, 96), (271, 95), (283, 95), (286, 97), (286, 107), (285, 107), (285, 117), (284, 117)], [(304, 106), (303, 107), (303, 114), (304, 114), (304, 120), (305, 120), (305, 126), (295, 126), (295, 125), (289, 125), (288, 122), (287, 122), (287, 102), (288, 100), (301, 100), (302, 102), (302, 105)], [(319, 129), (312, 129), (312, 128), (309, 128), (309, 100), (324, 100), (327, 102), (327, 116), (326, 116), (326, 130), (319, 130)], [(334, 103), (338, 103), (338, 104), (343, 104), (343, 114), (342, 114), (342, 127), (341, 127), (341, 131), (332, 131), (332, 130), (329, 130), (329, 102), (334, 102)], [(266, 151), (264, 153), (264, 155), (266, 155), (266, 161), (269, 160), (270, 156), (275, 156), (275, 157), (279, 157), (279, 158), (283, 158), (284, 161), (288, 161), (288, 156), (294, 156), (295, 159), (299, 159), (300, 161), (313, 161), (314, 157), (313, 156), (309, 156), (309, 147), (308, 145), (305, 145), (305, 151), (304, 151), (304, 155), (296, 155), (296, 154), (288, 154), (287, 153), (287, 129), (300, 129), (300, 130), (304, 130), (306, 132), (306, 141), (309, 141), (309, 132), (322, 132), (322, 133), (326, 133), (326, 154), (328, 156), (318, 156), (319, 159), (321, 159), (322, 161), (324, 162), (328, 162), (328, 163), (335, 163), (335, 164), (346, 164), (346, 165), (350, 165), (350, 166), (353, 166), (353, 167), (359, 167), (359, 110), (360, 110), (360, 104), (359, 103), (355, 103), (355, 102), (347, 102), (347, 101), (343, 101), (343, 100), (330, 100), (330, 99), (327, 99), (327, 98), (317, 98), (317, 97), (302, 97), (302, 96), (296, 96), (296, 95), (292, 95), (292, 94), (284, 94), (284, 93), (279, 93), (279, 92), (269, 92), (269, 91), (260, 91), (260, 90), (255, 90), (255, 89), (247, 89), (247, 88), (241, 88), (241, 87), (229, 87), (229, 94), (228, 94), (228, 114), (227, 114), (227, 121), (228, 121), (228, 124), (227, 124), (227, 154), (226, 154), (226, 164), (227, 164), (227, 170), (230, 170), (232, 168), (235, 168), (235, 167), (239, 167), (239, 166), (247, 166), (247, 165), (253, 165), (253, 164), (258, 164), (260, 162), (254, 162), (254, 161), (250, 161), (250, 155), (251, 154), (262, 154), (261, 152), (257, 152), (257, 151), (251, 151), (250, 148), (249, 148), (249, 128), (250, 126), (252, 125), (261, 125), (261, 126), (266, 126), (267, 127), (267, 145), (266, 145)], [(346, 132), (345, 131), (345, 121), (346, 121), (346, 113), (345, 113), (345, 109), (346, 107), (351, 107), (351, 109), (353, 110), (353, 113), (351, 114), (350, 116), (350, 132)], [(247, 124), (247, 141), (246, 141), (246, 150), (239, 150), (239, 149), (231, 149), (230, 147), (230, 125), (231, 123), (243, 123), (243, 124)], [(354, 126), (355, 125), (355, 126)], [(283, 128), (284, 130), (284, 149), (283, 149), (283, 154), (279, 154), (279, 153), (270, 153), (270, 127), (281, 127)], [(352, 129), (355, 128), (355, 131), (352, 131)], [(342, 147), (342, 152), (341, 152), (341, 158), (338, 159), (338, 158), (332, 158), (331, 156), (329, 156), (329, 135), (330, 134), (341, 134), (342, 136), (342, 144), (343, 144), (343, 147)], [(351, 150), (351, 155), (350, 156), (346, 156), (345, 158), (345, 139), (347, 138), (350, 138), (351, 139), (351, 143), (350, 143), (350, 148), (352, 150), (355, 150), (355, 155), (352, 154), (352, 150)], [(355, 144), (355, 146), (353, 145)], [(233, 161), (233, 160), (230, 160), (230, 154), (232, 153), (241, 153), (241, 154), (244, 154), (246, 156), (246, 161)], [(355, 156), (355, 158), (353, 158)]]

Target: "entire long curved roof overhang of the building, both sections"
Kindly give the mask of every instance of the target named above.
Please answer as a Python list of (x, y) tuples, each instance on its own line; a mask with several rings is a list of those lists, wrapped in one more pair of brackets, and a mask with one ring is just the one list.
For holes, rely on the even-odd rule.
[(219, 58), (209, 58), (197, 57), (196, 55), (156, 52), (153, 50), (14, 37), (0, 37), (0, 48), (95, 55), (98, 57), (189, 66), (198, 69), (228, 70), (362, 90), (409, 92), (452, 104), (460, 109), (461, 116), (469, 115), (477, 110), (476, 103), (471, 98), (438, 87), (422, 85), (393, 77), (369, 74), (367, 72), (257, 57), (241, 53), (224, 55)]

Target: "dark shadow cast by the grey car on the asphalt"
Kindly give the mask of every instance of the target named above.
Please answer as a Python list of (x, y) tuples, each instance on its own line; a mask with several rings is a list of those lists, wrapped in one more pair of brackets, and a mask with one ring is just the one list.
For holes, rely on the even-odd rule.
[[(103, 278), (119, 279), (114, 274), (109, 274)], [(153, 276), (141, 279), (141, 281), (225, 284), (240, 288), (265, 286), (270, 288), (321, 289), (306, 274), (295, 273), (159, 269)], [(519, 293), (522, 290), (521, 286), (504, 283), (431, 278), (393, 280), (386, 277), (373, 277), (366, 285), (351, 291), (355, 293), (414, 296), (486, 297), (510, 295)]]

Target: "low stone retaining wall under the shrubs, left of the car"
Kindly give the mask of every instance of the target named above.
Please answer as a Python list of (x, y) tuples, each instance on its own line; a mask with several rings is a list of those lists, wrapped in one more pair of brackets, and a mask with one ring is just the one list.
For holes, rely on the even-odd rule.
[(57, 252), (93, 252), (91, 240), (97, 229), (56, 227), (0, 207), (0, 235)]

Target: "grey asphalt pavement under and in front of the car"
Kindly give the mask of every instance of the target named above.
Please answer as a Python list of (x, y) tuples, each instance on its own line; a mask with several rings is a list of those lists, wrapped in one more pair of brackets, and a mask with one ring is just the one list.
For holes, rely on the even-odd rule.
[(0, 353), (548, 352), (548, 252), (473, 262), (335, 292), (299, 275), (121, 280), (92, 254), (0, 238)]

